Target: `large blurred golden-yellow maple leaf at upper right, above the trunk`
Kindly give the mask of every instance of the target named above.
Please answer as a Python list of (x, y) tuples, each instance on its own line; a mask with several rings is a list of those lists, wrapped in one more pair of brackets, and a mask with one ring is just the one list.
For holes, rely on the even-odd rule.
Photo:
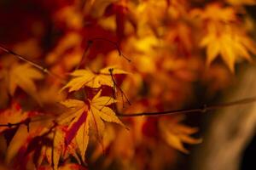
[(237, 59), (251, 60), (250, 52), (256, 54), (253, 41), (243, 32), (231, 30), (230, 27), (218, 31), (217, 26), (211, 26), (206, 37), (201, 40), (201, 47), (207, 48), (207, 65), (221, 55), (230, 71), (234, 72)]

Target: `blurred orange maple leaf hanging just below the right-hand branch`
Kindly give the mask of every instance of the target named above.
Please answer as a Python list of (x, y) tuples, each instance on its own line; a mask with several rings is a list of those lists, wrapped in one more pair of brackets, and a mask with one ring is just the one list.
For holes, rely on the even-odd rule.
[(183, 147), (183, 142), (187, 144), (200, 144), (202, 139), (194, 139), (189, 135), (196, 133), (198, 128), (188, 127), (180, 123), (183, 116), (172, 117), (172, 119), (160, 118), (159, 127), (160, 134), (167, 144), (173, 148), (189, 153), (189, 150)]

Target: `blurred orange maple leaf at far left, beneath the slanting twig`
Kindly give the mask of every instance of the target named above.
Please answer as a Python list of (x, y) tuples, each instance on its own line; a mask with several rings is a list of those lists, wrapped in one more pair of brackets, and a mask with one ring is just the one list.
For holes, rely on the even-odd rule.
[(36, 85), (33, 81), (43, 78), (43, 74), (29, 64), (14, 64), (9, 71), (9, 93), (15, 94), (17, 87), (22, 88), (27, 94), (35, 99)]

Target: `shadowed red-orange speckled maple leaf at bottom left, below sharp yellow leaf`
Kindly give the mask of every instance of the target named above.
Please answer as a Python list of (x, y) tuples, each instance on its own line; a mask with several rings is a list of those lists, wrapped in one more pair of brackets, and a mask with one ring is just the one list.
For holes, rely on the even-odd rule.
[[(56, 123), (50, 125), (50, 127), (38, 127), (37, 130), (34, 129), (29, 134), (20, 132), (19, 135), (25, 137), (22, 142), (23, 145), (18, 145), (18, 147), (23, 147), (22, 150), (19, 150), (20, 153), (17, 154), (20, 155), (20, 158), (18, 158), (20, 161), (32, 153), (32, 160), (37, 168), (41, 166), (45, 158), (54, 170), (58, 169), (61, 157), (65, 159), (67, 156), (72, 155), (79, 161), (75, 145), (72, 143), (67, 147), (65, 146), (64, 137), (67, 127), (58, 126)], [(17, 143), (17, 141), (13, 142)], [(27, 142), (28, 144), (26, 144)], [(17, 146), (13, 144), (12, 147), (14, 149)]]

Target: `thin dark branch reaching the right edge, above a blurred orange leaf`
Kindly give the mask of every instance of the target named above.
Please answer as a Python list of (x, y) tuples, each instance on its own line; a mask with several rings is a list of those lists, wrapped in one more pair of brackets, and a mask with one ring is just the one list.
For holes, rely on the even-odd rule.
[(238, 99), (235, 101), (219, 104), (219, 105), (203, 105), (201, 108), (196, 109), (184, 109), (176, 111), (156, 111), (156, 112), (141, 112), (141, 113), (128, 113), (128, 114), (117, 114), (120, 117), (135, 117), (135, 116), (164, 116), (164, 115), (177, 115), (177, 114), (186, 114), (186, 113), (195, 113), (201, 112), (205, 113), (207, 111), (216, 111), (226, 107), (236, 106), (236, 105), (246, 105), (256, 102), (256, 97)]

